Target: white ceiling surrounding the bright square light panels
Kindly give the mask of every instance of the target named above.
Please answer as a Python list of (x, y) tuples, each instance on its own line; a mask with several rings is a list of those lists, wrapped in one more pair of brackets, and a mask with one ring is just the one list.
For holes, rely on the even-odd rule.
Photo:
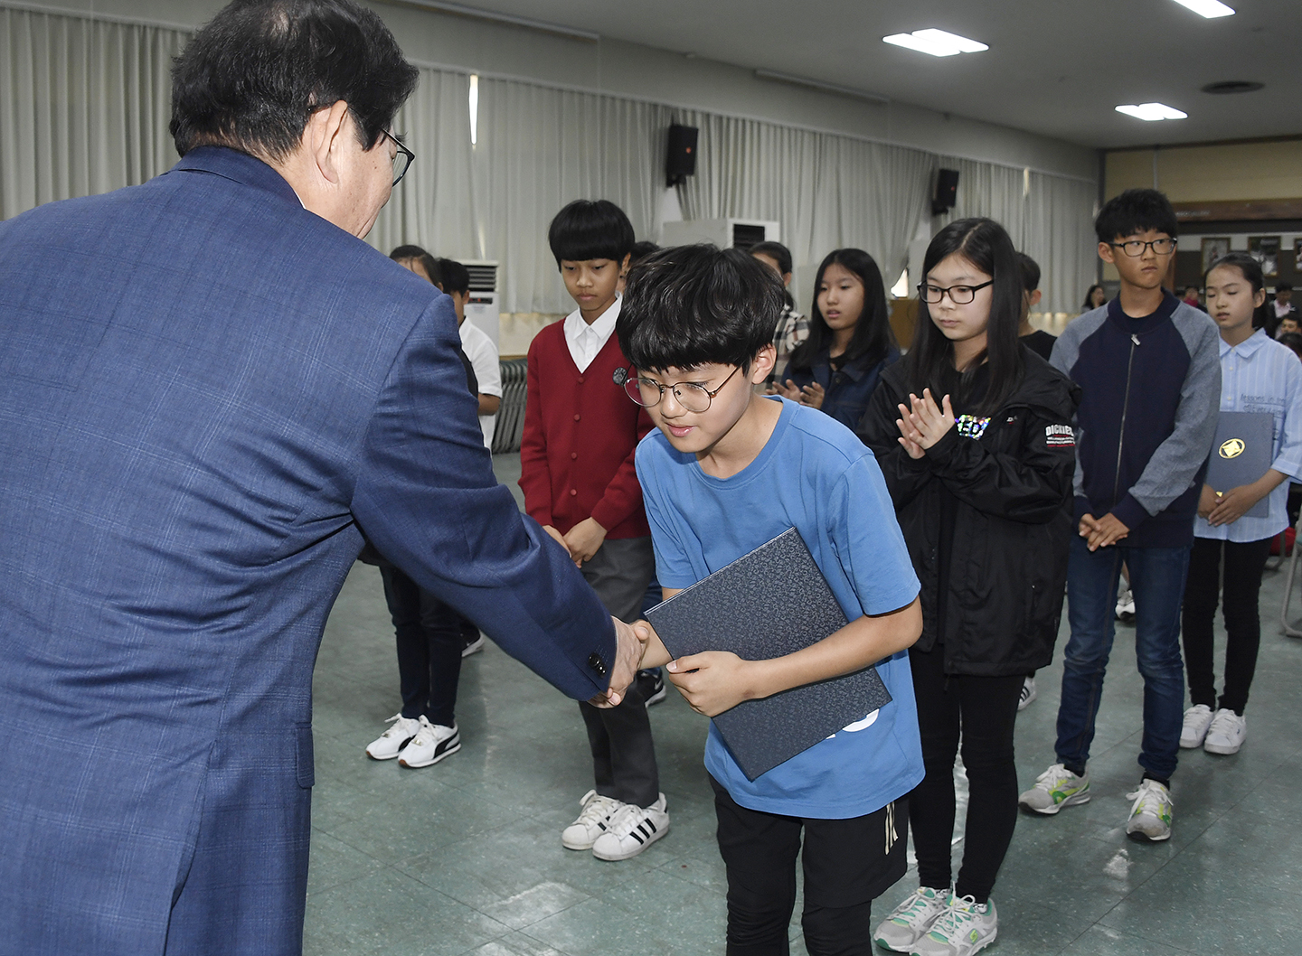
[[(471, 0), (1082, 146), (1302, 134), (1302, 0), (1228, 3), (1236, 16), (1203, 20), (1174, 0)], [(940, 59), (881, 42), (924, 27), (990, 49)], [(1266, 88), (1200, 92), (1229, 79)], [(1150, 101), (1189, 118), (1143, 122), (1113, 111)]]

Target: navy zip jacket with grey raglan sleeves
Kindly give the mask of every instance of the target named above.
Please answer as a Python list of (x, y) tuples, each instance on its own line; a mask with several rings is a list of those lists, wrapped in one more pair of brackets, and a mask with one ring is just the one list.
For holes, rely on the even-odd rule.
[(1111, 511), (1129, 548), (1191, 545), (1220, 414), (1216, 323), (1170, 293), (1141, 319), (1117, 298), (1068, 325), (1051, 362), (1081, 385), (1077, 520)]

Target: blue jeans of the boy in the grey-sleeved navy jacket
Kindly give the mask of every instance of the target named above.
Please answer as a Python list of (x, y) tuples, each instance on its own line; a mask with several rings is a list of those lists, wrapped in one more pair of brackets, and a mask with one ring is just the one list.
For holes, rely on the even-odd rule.
[(1176, 771), (1184, 723), (1185, 672), (1180, 659), (1180, 607), (1189, 571), (1187, 548), (1100, 548), (1072, 538), (1066, 571), (1072, 637), (1062, 654), (1057, 758), (1083, 767), (1112, 652), (1117, 579), (1130, 570), (1135, 598), (1135, 657), (1143, 676), (1143, 741), (1139, 766), (1168, 779)]

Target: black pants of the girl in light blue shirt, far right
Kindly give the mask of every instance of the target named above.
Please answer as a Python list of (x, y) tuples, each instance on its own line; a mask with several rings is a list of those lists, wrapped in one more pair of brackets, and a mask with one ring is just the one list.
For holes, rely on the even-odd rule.
[[(1189, 698), (1212, 710), (1228, 708), (1240, 717), (1247, 706), (1247, 692), (1256, 672), (1256, 652), (1262, 644), (1262, 618), (1258, 598), (1262, 571), (1271, 554), (1271, 541), (1220, 541), (1195, 537), (1189, 555), (1189, 580), (1181, 620), (1185, 637), (1185, 669)], [(1212, 661), (1212, 623), (1216, 619), (1217, 591), (1221, 589), (1221, 549), (1225, 551), (1225, 688), (1216, 701), (1216, 672)]]

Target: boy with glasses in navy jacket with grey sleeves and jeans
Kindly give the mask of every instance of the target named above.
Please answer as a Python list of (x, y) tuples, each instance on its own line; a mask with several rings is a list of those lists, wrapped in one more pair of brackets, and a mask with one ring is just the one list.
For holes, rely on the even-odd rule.
[(1116, 299), (1068, 325), (1052, 364), (1079, 382), (1075, 518), (1068, 563), (1072, 637), (1062, 657), (1059, 762), (1021, 804), (1053, 814), (1090, 799), (1086, 761), (1112, 649), (1117, 576), (1135, 598), (1143, 676), (1143, 779), (1126, 834), (1170, 836), (1170, 775), (1184, 722), (1180, 607), (1194, 515), (1220, 410), (1216, 324), (1161, 287), (1176, 254), (1176, 213), (1151, 189), (1126, 190), (1095, 220), (1099, 256), (1121, 276)]

